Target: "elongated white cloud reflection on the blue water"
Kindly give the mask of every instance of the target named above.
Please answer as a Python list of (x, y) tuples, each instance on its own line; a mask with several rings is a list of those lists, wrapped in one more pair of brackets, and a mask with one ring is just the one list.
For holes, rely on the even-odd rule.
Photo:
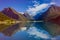
[(50, 35), (49, 34), (45, 34), (43, 32), (39, 32), (39, 30), (37, 28), (35, 28), (35, 27), (31, 27), (28, 30), (28, 33), (30, 35), (35, 35), (35, 37), (44, 38), (44, 39), (50, 39)]

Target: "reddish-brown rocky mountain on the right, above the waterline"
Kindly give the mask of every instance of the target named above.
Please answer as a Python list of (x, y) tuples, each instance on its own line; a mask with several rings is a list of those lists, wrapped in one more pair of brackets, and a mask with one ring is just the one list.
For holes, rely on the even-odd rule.
[(52, 5), (44, 15), (44, 20), (60, 25), (60, 7)]

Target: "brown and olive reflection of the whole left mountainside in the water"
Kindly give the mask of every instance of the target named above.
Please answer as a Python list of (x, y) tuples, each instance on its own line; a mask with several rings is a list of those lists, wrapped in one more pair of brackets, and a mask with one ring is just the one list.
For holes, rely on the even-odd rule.
[(30, 23), (21, 22), (18, 24), (13, 25), (0, 25), (0, 32), (4, 33), (5, 35), (11, 36), (13, 33), (20, 30), (22, 27), (27, 27)]

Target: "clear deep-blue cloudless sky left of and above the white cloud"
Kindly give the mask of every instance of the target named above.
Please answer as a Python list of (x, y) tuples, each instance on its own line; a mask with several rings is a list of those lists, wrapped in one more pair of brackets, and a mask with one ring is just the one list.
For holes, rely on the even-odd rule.
[[(0, 10), (6, 7), (12, 7), (17, 11), (24, 12), (29, 6), (33, 6), (35, 0), (0, 0)], [(39, 3), (49, 3), (50, 0), (36, 0)]]

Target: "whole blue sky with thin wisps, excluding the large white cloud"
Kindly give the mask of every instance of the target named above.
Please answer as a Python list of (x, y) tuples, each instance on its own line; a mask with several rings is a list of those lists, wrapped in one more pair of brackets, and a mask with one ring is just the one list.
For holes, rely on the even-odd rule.
[(29, 8), (31, 7), (35, 8), (37, 5), (41, 4), (45, 5), (49, 4), (50, 2), (55, 2), (56, 5), (60, 6), (59, 0), (0, 0), (0, 11), (3, 10), (4, 8), (12, 7), (18, 12), (25, 12), (26, 10), (29, 10)]

